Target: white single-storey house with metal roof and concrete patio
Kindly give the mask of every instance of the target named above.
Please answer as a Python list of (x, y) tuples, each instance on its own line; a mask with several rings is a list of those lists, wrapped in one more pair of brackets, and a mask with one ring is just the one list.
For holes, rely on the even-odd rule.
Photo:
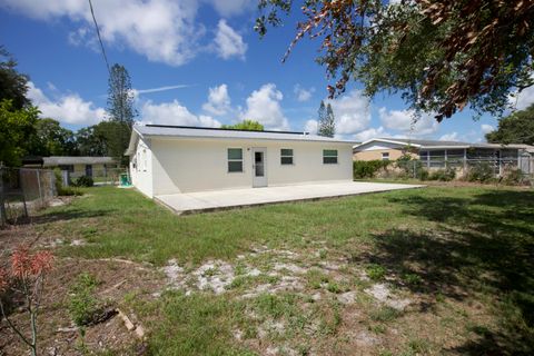
[(158, 195), (352, 180), (352, 141), (306, 132), (135, 126), (135, 187)]

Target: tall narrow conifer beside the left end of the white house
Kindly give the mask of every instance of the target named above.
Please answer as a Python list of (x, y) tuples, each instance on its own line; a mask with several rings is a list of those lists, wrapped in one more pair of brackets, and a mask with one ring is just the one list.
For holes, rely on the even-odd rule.
[(113, 65), (109, 76), (108, 108), (109, 121), (101, 122), (105, 127), (108, 155), (128, 164), (125, 150), (128, 147), (131, 127), (137, 111), (134, 108), (134, 91), (131, 80), (123, 66)]

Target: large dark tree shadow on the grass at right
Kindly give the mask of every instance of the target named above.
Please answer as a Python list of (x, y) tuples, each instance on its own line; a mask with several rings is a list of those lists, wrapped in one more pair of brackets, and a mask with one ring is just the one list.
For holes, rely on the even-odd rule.
[[(442, 294), (464, 300), (483, 294), (494, 300), (498, 330), (449, 349), (467, 355), (534, 353), (534, 192), (484, 191), (472, 197), (392, 198), (404, 214), (438, 222), (436, 230), (392, 229), (374, 235), (365, 259), (395, 273), (416, 273), (413, 291), (435, 300)], [(433, 303), (422, 305), (422, 312)]]

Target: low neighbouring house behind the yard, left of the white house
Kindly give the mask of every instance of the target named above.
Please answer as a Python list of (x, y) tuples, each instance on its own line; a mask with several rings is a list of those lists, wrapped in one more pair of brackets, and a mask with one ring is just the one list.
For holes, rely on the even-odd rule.
[(118, 167), (112, 157), (77, 157), (77, 156), (51, 156), (27, 157), (22, 160), (24, 167), (40, 167), (67, 170), (71, 178), (81, 176), (106, 177), (108, 171)]

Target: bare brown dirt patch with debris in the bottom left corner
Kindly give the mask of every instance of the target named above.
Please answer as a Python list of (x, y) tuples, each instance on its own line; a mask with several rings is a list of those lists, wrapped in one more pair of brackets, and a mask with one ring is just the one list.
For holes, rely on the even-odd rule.
[[(87, 273), (99, 281), (97, 296), (108, 305), (125, 310), (136, 325), (142, 324), (132, 310), (123, 304), (125, 296), (135, 295), (138, 299), (150, 300), (152, 290), (165, 286), (165, 280), (155, 268), (126, 260), (80, 260), (59, 259), (46, 281), (42, 308), (38, 319), (39, 350), (43, 355), (79, 355), (83, 348), (79, 329), (68, 314), (69, 288), (76, 278)], [(28, 318), (14, 310), (10, 318), (30, 333)], [(0, 325), (0, 355), (23, 355), (26, 346), (6, 323)], [(113, 316), (105, 323), (88, 326), (83, 338), (85, 347), (90, 352), (115, 350), (119, 354), (138, 354), (142, 343), (135, 332), (126, 328), (123, 320)]]

